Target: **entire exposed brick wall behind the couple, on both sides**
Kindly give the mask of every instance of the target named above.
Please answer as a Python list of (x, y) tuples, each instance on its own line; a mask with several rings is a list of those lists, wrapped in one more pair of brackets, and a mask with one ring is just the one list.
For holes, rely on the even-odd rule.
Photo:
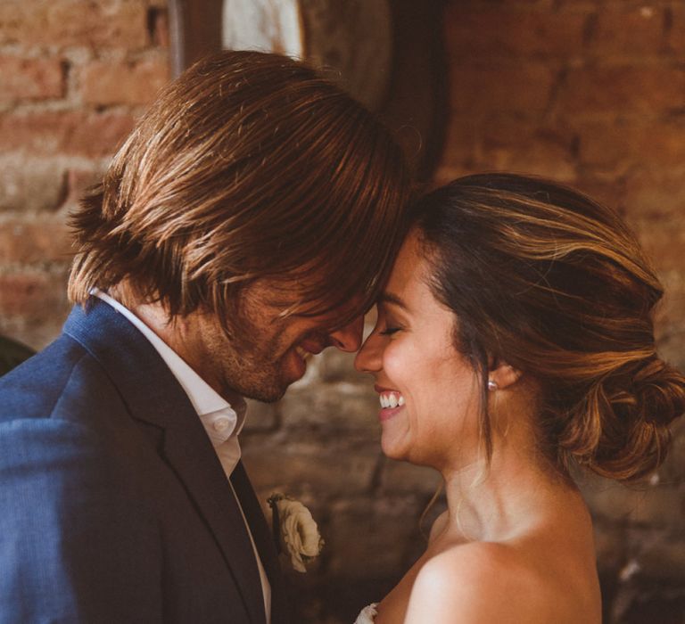
[[(619, 209), (668, 289), (659, 346), (685, 368), (685, 6), (676, 0), (451, 0), (450, 123), (438, 182), (506, 168), (556, 177)], [(0, 2), (0, 333), (34, 347), (68, 312), (65, 216), (168, 78), (163, 0)], [(423, 548), (438, 480), (381, 455), (376, 398), (327, 352), (244, 456), (260, 493), (313, 509), (325, 554), (293, 573), (302, 621), (351, 622)], [(606, 621), (681, 621), (685, 430), (642, 489), (583, 485)], [(441, 503), (429, 513), (440, 509)]]

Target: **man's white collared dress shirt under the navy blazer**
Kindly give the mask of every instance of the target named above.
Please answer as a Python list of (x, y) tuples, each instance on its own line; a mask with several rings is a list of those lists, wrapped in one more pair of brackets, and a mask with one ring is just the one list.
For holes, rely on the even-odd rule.
[[(169, 370), (176, 377), (177, 382), (181, 384), (183, 390), (190, 399), (190, 402), (195, 408), (195, 412), (202, 421), (204, 431), (211, 440), (214, 451), (219, 456), (221, 466), (226, 473), (227, 479), (230, 478), (231, 473), (235, 470), (235, 466), (240, 460), (240, 444), (238, 443), (238, 433), (243, 429), (245, 422), (246, 406), (244, 400), (241, 400), (240, 405), (236, 405), (235, 409), (227, 402), (226, 399), (221, 398), (210, 385), (205, 382), (200, 375), (186, 364), (186, 361), (180, 357), (176, 351), (171, 349), (169, 345), (162, 341), (161, 338), (153, 332), (146, 324), (143, 323), (133, 312), (120, 304), (119, 301), (112, 299), (107, 293), (98, 289), (93, 289), (91, 294), (99, 297), (101, 300), (109, 303), (112, 308), (126, 316), (128, 320), (136, 325), (136, 327), (143, 333), (144, 337), (153, 345), (154, 349), (160, 354)], [(228, 481), (233, 489), (233, 484)], [(234, 490), (235, 496), (235, 490)], [(240, 505), (238, 497), (235, 496), (241, 513), (243, 508)], [(248, 535), (252, 541), (252, 550), (257, 560), (257, 567), (260, 571), (261, 589), (264, 596), (264, 610), (267, 614), (267, 624), (271, 620), (271, 586), (268, 582), (266, 571), (260, 560), (260, 554), (257, 552), (257, 547), (254, 545), (252, 538), (252, 531), (250, 530), (245, 514), (243, 513), (243, 521), (247, 527)]]

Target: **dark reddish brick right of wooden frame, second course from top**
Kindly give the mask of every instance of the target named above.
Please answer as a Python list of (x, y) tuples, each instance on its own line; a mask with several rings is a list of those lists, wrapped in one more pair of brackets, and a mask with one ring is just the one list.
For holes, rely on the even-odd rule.
[(450, 103), (471, 116), (492, 111), (540, 115), (549, 104), (555, 70), (540, 62), (452, 62)]

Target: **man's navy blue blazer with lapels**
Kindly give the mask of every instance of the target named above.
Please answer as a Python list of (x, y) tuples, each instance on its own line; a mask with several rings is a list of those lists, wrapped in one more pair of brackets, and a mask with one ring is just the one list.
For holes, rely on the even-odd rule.
[[(270, 531), (231, 477), (288, 621)], [(186, 393), (100, 300), (0, 378), (0, 622), (264, 624), (250, 538)]]

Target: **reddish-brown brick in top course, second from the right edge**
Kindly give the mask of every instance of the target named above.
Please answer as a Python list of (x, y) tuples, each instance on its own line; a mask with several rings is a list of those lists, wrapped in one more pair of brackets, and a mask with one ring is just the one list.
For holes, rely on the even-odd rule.
[(644, 57), (664, 52), (665, 44), (664, 7), (600, 5), (589, 51), (601, 56)]

